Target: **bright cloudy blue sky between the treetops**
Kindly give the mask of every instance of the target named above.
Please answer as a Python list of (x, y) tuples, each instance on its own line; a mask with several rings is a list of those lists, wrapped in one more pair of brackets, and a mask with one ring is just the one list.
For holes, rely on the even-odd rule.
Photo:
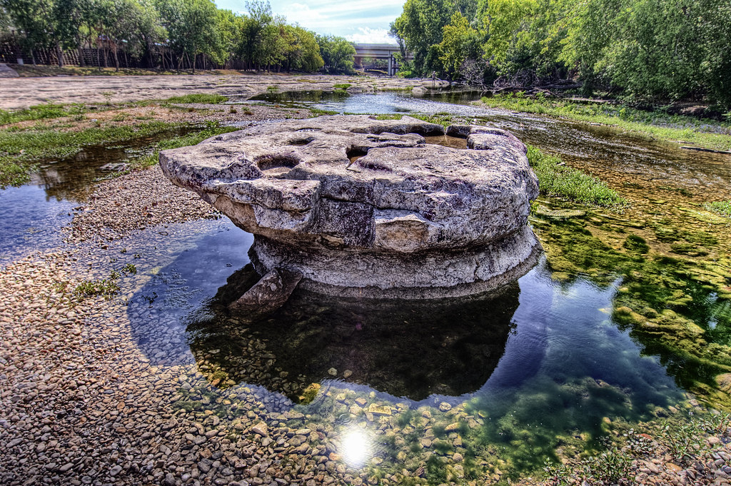
[[(222, 9), (246, 12), (244, 0), (215, 0)], [(272, 12), (287, 23), (299, 23), (318, 34), (332, 34), (353, 42), (395, 44), (388, 26), (404, 7), (405, 0), (270, 0)]]

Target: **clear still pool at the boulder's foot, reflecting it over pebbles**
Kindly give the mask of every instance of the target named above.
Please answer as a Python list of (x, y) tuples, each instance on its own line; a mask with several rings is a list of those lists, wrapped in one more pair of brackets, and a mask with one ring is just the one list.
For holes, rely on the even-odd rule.
[[(552, 457), (557, 437), (591, 443), (604, 435), (605, 417), (649, 419), (657, 407), (683, 399), (659, 358), (640, 352), (610, 319), (619, 282), (561, 284), (543, 259), (499, 295), (409, 303), (295, 291), (275, 314), (257, 318), (227, 311), (256, 281), (246, 257), (251, 235), (227, 221), (164, 233), (128, 242), (143, 253), (164, 247), (151, 262), (169, 262), (146, 274), (129, 299), (132, 335), (151, 364), (193, 364), (232, 395), (254, 393), (275, 417), (297, 412), (341, 428), (343, 441), (352, 430), (363, 433), (372, 443), (358, 459), (363, 464), (378, 457), (387, 471), (401, 449), (411, 461), (428, 460), (431, 449), (383, 441), (377, 417), (349, 415), (357, 398), (400, 410), (392, 422), (410, 423), (412, 441), (432, 437), (447, 455), (480, 457), (497, 448), (496, 457), (515, 470)], [(303, 400), (313, 384), (319, 390)], [(341, 405), (336, 397), (346, 393), (352, 395)], [(441, 432), (461, 417), (442, 413), (444, 403), (465, 414), (461, 424), (480, 420), (471, 422), (474, 429), (463, 425), (462, 447), (449, 446)], [(436, 425), (420, 425), (424, 410)]]

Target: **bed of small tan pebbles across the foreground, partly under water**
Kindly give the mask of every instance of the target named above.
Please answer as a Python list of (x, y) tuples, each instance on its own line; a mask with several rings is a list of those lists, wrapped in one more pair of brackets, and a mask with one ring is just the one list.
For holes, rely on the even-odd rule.
[[(75, 210), (63, 246), (0, 270), (0, 484), (507, 482), (496, 449), (470, 457), (467, 438), (488, 418), (469, 402), (410, 409), (336, 381), (308, 384), (272, 368), (276, 357), (245, 327), (246, 366), (236, 380), (221, 368), (217, 349), (191, 352), (182, 324), (147, 305), (140, 289), (161, 275), (171, 253), (187, 249), (186, 238), (216, 225), (224, 231), (217, 217), (152, 167), (99, 183)], [(102, 281), (118, 292), (77, 291)], [(306, 393), (317, 400), (298, 406), (247, 382), (282, 390), (311, 385)], [(688, 410), (662, 414), (697, 410), (690, 402)], [(728, 484), (730, 434), (703, 433), (685, 462), (648, 436), (621, 482)], [(353, 441), (364, 436), (370, 449), (361, 444), (354, 454)], [(576, 444), (567, 442), (560, 455), (579, 474)]]

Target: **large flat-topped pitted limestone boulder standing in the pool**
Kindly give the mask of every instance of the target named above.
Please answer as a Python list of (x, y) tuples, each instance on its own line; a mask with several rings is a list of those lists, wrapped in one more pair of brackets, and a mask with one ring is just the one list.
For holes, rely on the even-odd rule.
[[(404, 116), (260, 124), (160, 153), (173, 183), (255, 235), (264, 275), (364, 297), (468, 295), (521, 276), (540, 246), (527, 224), (538, 184), (509, 132)], [(430, 142), (430, 143), (428, 143)]]

